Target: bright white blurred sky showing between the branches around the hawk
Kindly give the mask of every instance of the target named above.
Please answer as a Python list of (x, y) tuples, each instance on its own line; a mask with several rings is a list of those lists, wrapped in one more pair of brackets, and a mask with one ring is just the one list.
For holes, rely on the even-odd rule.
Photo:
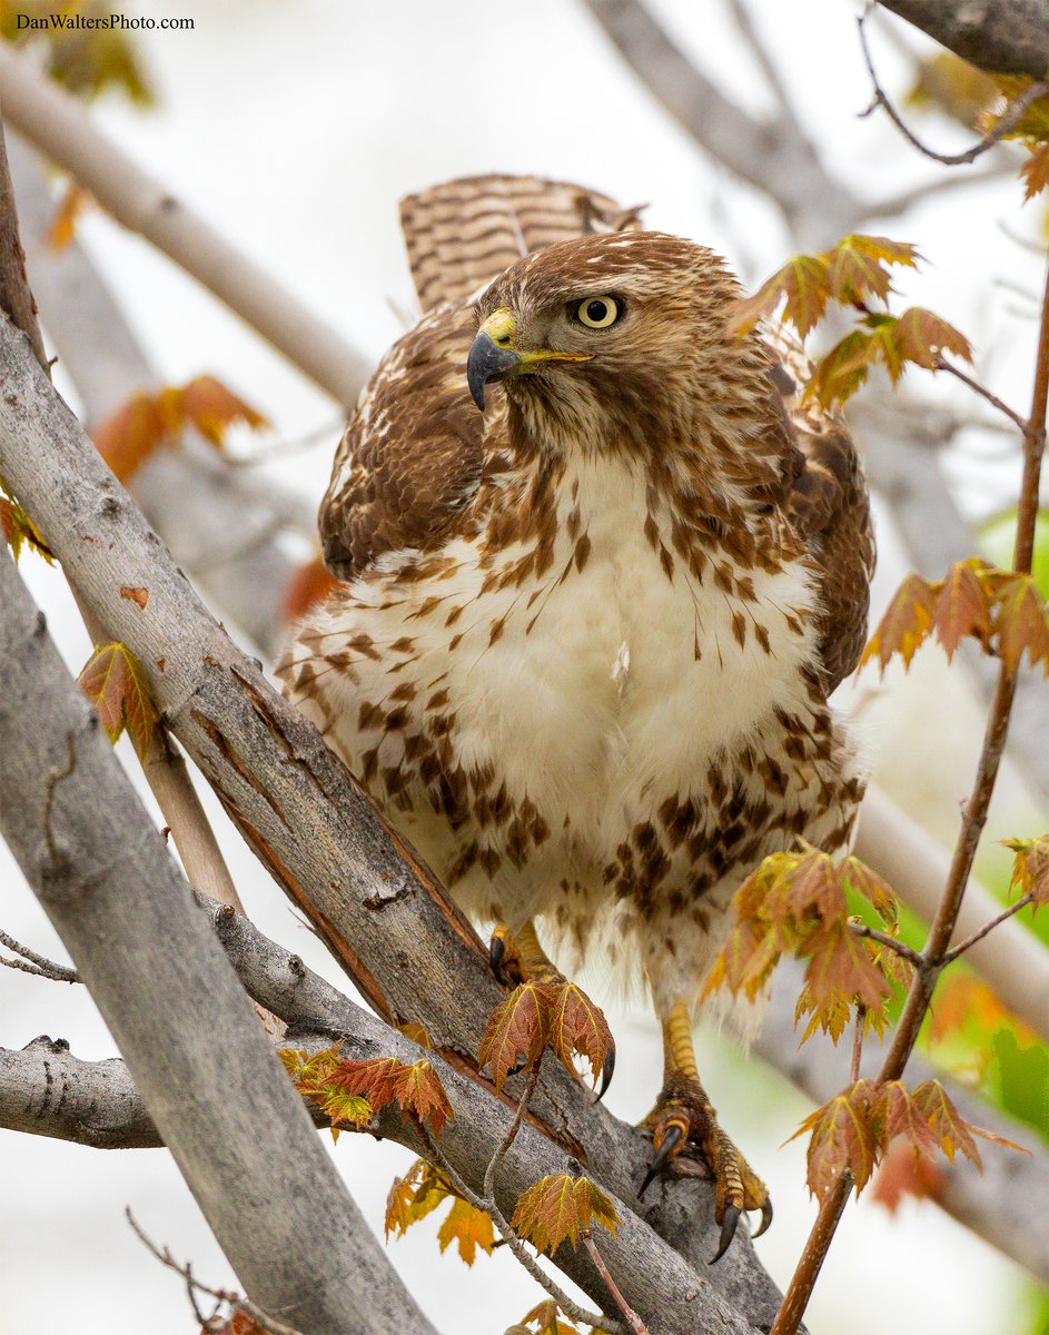
[[(750, 0), (750, 7), (829, 166), (871, 196), (936, 176), (938, 168), (906, 150), (881, 117), (858, 119), (869, 87), (850, 0)], [(659, 0), (653, 8), (731, 96), (755, 111), (767, 104), (719, 3)], [(769, 206), (697, 154), (574, 0), (143, 0), (121, 12), (191, 16), (196, 27), (140, 35), (160, 107), (141, 113), (113, 100), (99, 104), (105, 132), (375, 359), (400, 332), (395, 311), (412, 304), (398, 199), (440, 179), (488, 170), (539, 172), (579, 180), (629, 204), (651, 202), (651, 226), (722, 250), (749, 280), (777, 268), (790, 248)], [(908, 40), (921, 47), (917, 35)], [(877, 51), (885, 81), (902, 88), (898, 47), (882, 39)], [(926, 129), (945, 148), (964, 139), (948, 121), (932, 120)], [(1004, 224), (1037, 231), (1036, 206), (1022, 214), (1020, 198), (1013, 184), (950, 192), (884, 226), (917, 243), (930, 260), (901, 288), (970, 332), (981, 371), (1025, 409), (1030, 303), (1004, 283), (1037, 291), (1040, 260), (1004, 231)], [(880, 228), (871, 222), (867, 230)], [(266, 413), (280, 438), (332, 425), (330, 442), (270, 470), (318, 499), (338, 435), (330, 402), (149, 246), (97, 215), (84, 219), (81, 236), (169, 383), (212, 372)], [(929, 388), (956, 398), (953, 387)], [(876, 386), (874, 392), (884, 391)], [(1005, 499), (1013, 477), (1008, 467), (972, 459), (956, 471), (965, 503), (984, 511)], [(881, 598), (904, 562), (884, 523)], [(32, 557), (23, 561), (23, 573), (79, 670), (88, 646), (60, 574)], [(948, 681), (936, 650), (924, 658), (902, 697), (867, 702), (870, 748), (880, 773), (893, 766), (921, 772), (910, 790), (921, 801), (912, 808), (950, 829), (976, 753), (972, 705), (957, 689), (957, 674)], [(912, 702), (910, 713), (901, 698)], [(914, 764), (914, 710), (948, 738), (918, 742), (930, 752), (918, 757), (928, 765)], [(941, 750), (938, 766), (933, 746)], [(953, 776), (949, 782), (945, 772)], [(1021, 818), (1016, 789), (1008, 788), (1005, 798), (1000, 824), (1013, 832)], [(339, 983), (279, 890), (228, 834), (214, 802), (211, 809), (252, 917)], [(63, 957), (3, 848), (0, 925)], [(203, 1013), (206, 1005), (202, 999)], [(619, 1061), (609, 1101), (617, 1113), (638, 1119), (659, 1081), (658, 1035), (643, 1008), (610, 1009), (610, 1020)], [(0, 1044), (21, 1047), (44, 1032), (68, 1039), (81, 1057), (115, 1052), (85, 996), (0, 969)], [(771, 1187), (777, 1219), (758, 1248), (782, 1284), (814, 1207), (802, 1185), (801, 1141), (781, 1143), (809, 1105), (717, 1037), (702, 1041), (707, 1087)], [(386, 1191), (407, 1155), (347, 1135), (335, 1159), (380, 1230)], [(0, 1132), (0, 1335), (59, 1322), (75, 1324), (79, 1335), (194, 1330), (179, 1280), (133, 1239), (123, 1219), (125, 1204), (157, 1242), (191, 1259), (202, 1278), (234, 1283), (163, 1151), (101, 1152)], [(440, 1330), (499, 1332), (542, 1296), (504, 1252), (482, 1258), (468, 1272), (458, 1258), (438, 1256), (435, 1232), (432, 1222), (416, 1226), (407, 1240), (391, 1244), (390, 1256)], [(814, 1335), (881, 1335), (889, 1328), (897, 1335), (1001, 1335), (1018, 1328), (1017, 1282), (1010, 1263), (936, 1207), (910, 1203), (889, 1219), (861, 1202), (850, 1206), (831, 1250), (810, 1328)]]

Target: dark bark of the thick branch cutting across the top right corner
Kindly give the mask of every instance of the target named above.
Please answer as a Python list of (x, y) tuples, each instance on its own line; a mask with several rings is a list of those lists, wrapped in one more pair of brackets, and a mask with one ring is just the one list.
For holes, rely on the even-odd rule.
[(1044, 79), (1048, 0), (880, 0), (964, 60), (998, 73)]

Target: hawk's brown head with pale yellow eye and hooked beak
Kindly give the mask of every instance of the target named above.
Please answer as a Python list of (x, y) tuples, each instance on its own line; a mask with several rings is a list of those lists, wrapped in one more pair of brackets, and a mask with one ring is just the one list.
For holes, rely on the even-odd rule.
[[(526, 256), (478, 299), (467, 380), (504, 382), (514, 419), (557, 447), (666, 449), (765, 434), (770, 355), (729, 328), (735, 279), (663, 232), (602, 232)], [(537, 439), (537, 443), (538, 443)]]

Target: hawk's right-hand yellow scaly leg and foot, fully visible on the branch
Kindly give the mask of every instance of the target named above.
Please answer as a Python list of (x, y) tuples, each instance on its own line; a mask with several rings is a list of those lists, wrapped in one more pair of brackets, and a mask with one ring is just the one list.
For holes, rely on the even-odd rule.
[(642, 1123), (651, 1131), (655, 1153), (638, 1195), (645, 1195), (657, 1173), (686, 1144), (695, 1145), (714, 1177), (714, 1218), (721, 1224), (721, 1244), (711, 1258), (713, 1266), (733, 1240), (739, 1215), (745, 1210), (761, 1211), (761, 1227), (754, 1234), (759, 1238), (773, 1222), (773, 1206), (765, 1183), (718, 1125), (699, 1083), (689, 1007), (678, 997), (659, 1020), (663, 1027), (663, 1088)]

